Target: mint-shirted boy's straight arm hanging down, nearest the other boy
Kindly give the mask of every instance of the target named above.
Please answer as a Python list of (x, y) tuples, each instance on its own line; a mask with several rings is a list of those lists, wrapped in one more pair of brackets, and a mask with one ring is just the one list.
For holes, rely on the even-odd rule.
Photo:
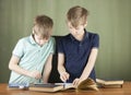
[(48, 79), (52, 68), (51, 62), (52, 62), (52, 54), (48, 57), (46, 64), (44, 67), (44, 74), (43, 74), (44, 83), (48, 83)]

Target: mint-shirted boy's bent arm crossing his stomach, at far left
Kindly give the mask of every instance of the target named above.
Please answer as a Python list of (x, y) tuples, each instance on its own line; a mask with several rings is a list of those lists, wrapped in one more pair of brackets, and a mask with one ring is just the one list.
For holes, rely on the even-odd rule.
[(27, 75), (27, 76), (31, 76), (31, 78), (35, 78), (35, 79), (40, 79), (41, 78), (41, 75), (38, 71), (29, 72), (29, 71), (21, 68), (19, 66), (19, 62), (20, 62), (20, 58), (16, 57), (16, 56), (12, 56), (11, 60), (9, 62), (9, 69), (19, 73), (19, 74)]

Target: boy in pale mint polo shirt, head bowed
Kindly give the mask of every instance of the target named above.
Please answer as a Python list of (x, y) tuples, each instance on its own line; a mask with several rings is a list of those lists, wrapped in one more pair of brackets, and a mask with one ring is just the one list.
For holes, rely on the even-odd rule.
[(21, 38), (12, 51), (9, 83), (28, 84), (48, 82), (55, 38), (50, 37), (53, 22), (47, 15), (35, 17), (32, 35)]

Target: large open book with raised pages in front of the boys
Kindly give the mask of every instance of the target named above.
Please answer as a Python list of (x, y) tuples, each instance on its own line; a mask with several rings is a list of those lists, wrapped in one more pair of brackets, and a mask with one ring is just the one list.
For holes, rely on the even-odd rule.
[(81, 82), (78, 86), (74, 86), (72, 83), (47, 83), (47, 84), (31, 84), (28, 90), (29, 91), (38, 91), (38, 92), (58, 92), (58, 91), (66, 91), (66, 90), (94, 90), (98, 91), (96, 83), (92, 79), (86, 79)]

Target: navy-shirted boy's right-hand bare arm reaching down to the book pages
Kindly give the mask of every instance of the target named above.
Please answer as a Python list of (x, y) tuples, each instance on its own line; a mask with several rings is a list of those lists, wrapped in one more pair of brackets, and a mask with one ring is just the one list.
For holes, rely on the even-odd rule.
[[(82, 75), (80, 76), (80, 79), (78, 80), (74, 80), (74, 84), (79, 84), (81, 83), (83, 80), (87, 79), (91, 71), (93, 70), (94, 68), (94, 64), (95, 64), (95, 61), (96, 61), (96, 58), (97, 58), (97, 54), (98, 54), (98, 48), (93, 48), (92, 51), (91, 51), (91, 55), (90, 55), (90, 58), (88, 58), (88, 61), (83, 70), (83, 73)], [(76, 82), (78, 81), (78, 82)]]

